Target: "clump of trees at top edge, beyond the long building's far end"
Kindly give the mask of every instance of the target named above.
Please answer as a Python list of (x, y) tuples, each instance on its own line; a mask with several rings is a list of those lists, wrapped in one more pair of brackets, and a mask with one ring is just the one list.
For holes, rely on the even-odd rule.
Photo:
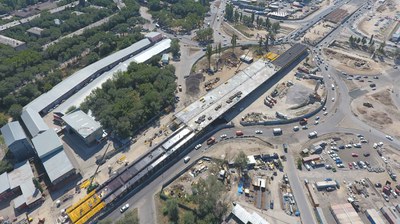
[(209, 10), (209, 1), (150, 0), (148, 6), (160, 26), (190, 31), (202, 25), (204, 15)]

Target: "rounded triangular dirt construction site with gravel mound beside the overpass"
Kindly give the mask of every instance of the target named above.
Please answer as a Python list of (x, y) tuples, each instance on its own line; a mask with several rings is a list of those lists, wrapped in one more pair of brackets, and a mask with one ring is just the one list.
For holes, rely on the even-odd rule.
[(268, 122), (301, 117), (320, 108), (326, 94), (318, 67), (306, 58), (244, 109), (237, 121)]

